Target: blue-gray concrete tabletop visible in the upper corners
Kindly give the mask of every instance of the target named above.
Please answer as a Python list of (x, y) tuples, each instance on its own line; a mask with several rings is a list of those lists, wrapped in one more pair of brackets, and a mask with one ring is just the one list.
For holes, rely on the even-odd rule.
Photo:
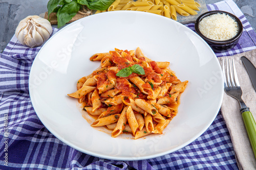
[[(205, 0), (206, 4), (222, 0)], [(256, 0), (233, 0), (247, 20), (256, 29)], [(20, 20), (28, 15), (40, 15), (47, 11), (48, 0), (0, 0), (0, 53), (15, 33)], [(56, 27), (56, 26), (53, 26)]]

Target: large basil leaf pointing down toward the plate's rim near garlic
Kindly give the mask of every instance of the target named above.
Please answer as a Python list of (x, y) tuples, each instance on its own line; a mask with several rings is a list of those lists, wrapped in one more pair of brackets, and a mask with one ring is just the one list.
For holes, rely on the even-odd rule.
[(80, 10), (81, 5), (76, 1), (63, 5), (57, 12), (58, 28), (69, 22)]

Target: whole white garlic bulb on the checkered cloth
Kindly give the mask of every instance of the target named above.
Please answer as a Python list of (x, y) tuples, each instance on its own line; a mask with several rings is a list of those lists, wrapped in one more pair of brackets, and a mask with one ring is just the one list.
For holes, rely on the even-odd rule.
[(37, 15), (30, 15), (21, 20), (15, 31), (18, 41), (29, 47), (41, 45), (49, 39), (51, 34), (51, 23)]

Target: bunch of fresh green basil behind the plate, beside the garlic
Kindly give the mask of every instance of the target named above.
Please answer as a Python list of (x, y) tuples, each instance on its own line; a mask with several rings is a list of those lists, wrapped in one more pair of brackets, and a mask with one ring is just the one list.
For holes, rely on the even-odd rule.
[(104, 11), (115, 0), (50, 0), (47, 4), (48, 18), (52, 12), (57, 12), (58, 28), (69, 22), (77, 12), (86, 5), (89, 9)]

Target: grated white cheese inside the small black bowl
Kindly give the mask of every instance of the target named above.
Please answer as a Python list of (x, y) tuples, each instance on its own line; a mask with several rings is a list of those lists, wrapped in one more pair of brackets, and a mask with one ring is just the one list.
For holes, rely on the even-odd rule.
[(237, 35), (238, 23), (227, 14), (217, 13), (203, 18), (199, 30), (209, 39), (225, 41)]

